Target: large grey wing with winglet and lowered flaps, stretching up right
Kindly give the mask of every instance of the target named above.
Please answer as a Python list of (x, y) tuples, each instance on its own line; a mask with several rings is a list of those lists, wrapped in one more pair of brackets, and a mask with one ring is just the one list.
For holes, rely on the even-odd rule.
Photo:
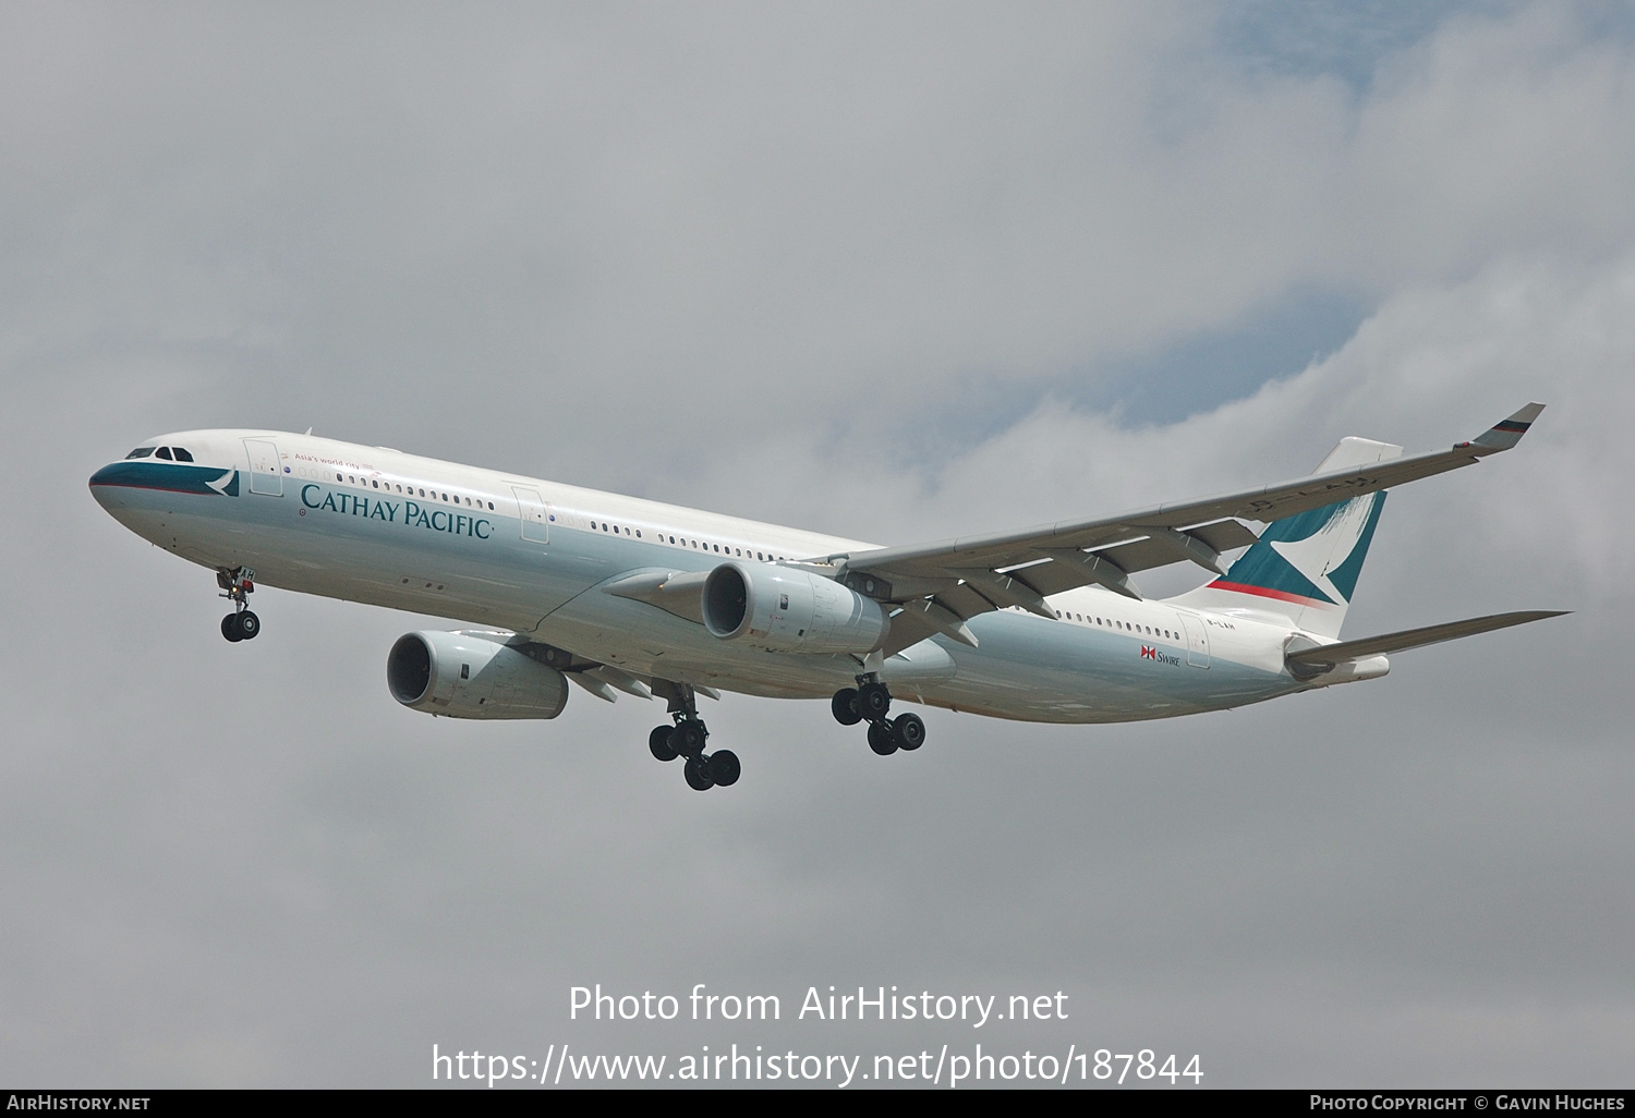
[(907, 647), (932, 633), (973, 644), (963, 623), (988, 610), (1020, 606), (1055, 618), (1055, 611), (1045, 605), (1046, 595), (1092, 584), (1138, 598), (1140, 593), (1128, 582), (1130, 574), (1180, 561), (1225, 574), (1220, 552), (1244, 548), (1257, 538), (1239, 520), (1282, 520), (1473, 466), (1521, 441), (1542, 410), (1543, 404), (1529, 404), (1468, 443), (1455, 443), (1445, 451), (1311, 474), (1277, 485), (1156, 505), (1118, 517), (1064, 520), (1020, 531), (844, 552), (824, 561), (840, 566), (840, 580), (853, 590), (901, 603), (906, 606), (904, 615), (912, 615), (893, 618), (889, 646)]

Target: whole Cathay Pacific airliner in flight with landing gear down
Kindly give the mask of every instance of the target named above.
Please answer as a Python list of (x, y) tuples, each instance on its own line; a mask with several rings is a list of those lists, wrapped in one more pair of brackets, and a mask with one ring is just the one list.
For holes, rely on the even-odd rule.
[[(96, 502), (216, 574), (231, 642), (260, 585), (455, 618), (386, 657), (397, 703), (549, 719), (569, 682), (665, 701), (647, 747), (687, 785), (739, 780), (698, 696), (829, 698), (881, 757), (925, 722), (894, 700), (1033, 722), (1174, 718), (1372, 680), (1388, 655), (1560, 616), (1529, 610), (1339, 639), (1385, 492), (1516, 446), (1529, 404), (1450, 449), (1344, 438), (1308, 477), (1094, 520), (878, 546), (798, 528), (263, 430), (144, 440)], [(1256, 531), (1251, 525), (1265, 525)], [(1228, 562), (1223, 552), (1244, 549)], [(1144, 598), (1131, 575), (1210, 574)]]

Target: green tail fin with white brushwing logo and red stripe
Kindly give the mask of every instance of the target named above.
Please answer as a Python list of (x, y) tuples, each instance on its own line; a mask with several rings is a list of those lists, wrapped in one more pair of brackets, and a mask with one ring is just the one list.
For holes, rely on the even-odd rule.
[[(1390, 443), (1342, 438), (1313, 472), (1383, 463), (1401, 453)], [(1252, 605), (1283, 613), (1308, 633), (1337, 637), (1383, 508), (1382, 490), (1274, 520), (1225, 575), (1177, 601), (1205, 610)]]

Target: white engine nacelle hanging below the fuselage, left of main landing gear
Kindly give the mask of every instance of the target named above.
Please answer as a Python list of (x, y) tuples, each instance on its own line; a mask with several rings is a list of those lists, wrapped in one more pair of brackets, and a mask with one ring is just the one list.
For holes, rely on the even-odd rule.
[(556, 718), (567, 677), (508, 647), (508, 633), (405, 633), (386, 657), (386, 686), (414, 711), (448, 718)]

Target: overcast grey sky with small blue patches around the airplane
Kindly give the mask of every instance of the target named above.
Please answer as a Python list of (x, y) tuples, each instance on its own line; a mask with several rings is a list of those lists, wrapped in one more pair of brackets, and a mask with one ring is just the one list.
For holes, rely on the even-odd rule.
[[(1628, 1085), (1632, 121), (1601, 3), (5, 5), (0, 1080), (983, 1041)], [(927, 711), (911, 757), (729, 695), (703, 796), (657, 704), (399, 708), (422, 618), (263, 590), (227, 646), (85, 490), (312, 427), (912, 543), (1534, 399), (1393, 495), (1346, 636), (1570, 618), (1172, 722)], [(594, 982), (785, 1020), (569, 1022)], [(829, 984), (1073, 1017), (788, 1020)]]

